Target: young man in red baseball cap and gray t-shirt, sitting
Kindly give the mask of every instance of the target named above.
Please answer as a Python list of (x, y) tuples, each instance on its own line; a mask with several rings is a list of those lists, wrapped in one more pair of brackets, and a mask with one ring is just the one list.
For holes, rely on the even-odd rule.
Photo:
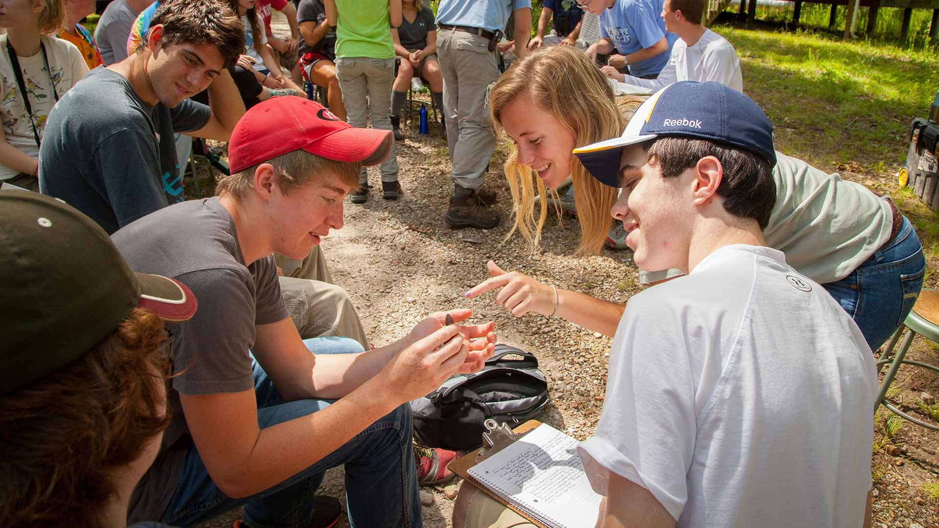
[[(245, 505), (248, 526), (331, 526), (337, 503), (314, 497), (346, 466), (349, 521), (421, 526), (407, 402), (482, 367), (493, 323), (469, 310), (423, 319), (391, 345), (301, 340), (272, 253), (302, 258), (343, 225), (362, 164), (380, 163), (391, 131), (350, 127), (313, 101), (254, 106), (232, 132), (220, 195), (156, 211), (114, 235), (132, 266), (192, 288), (200, 309), (172, 325), (173, 424), (131, 504), (131, 520), (191, 525)], [(177, 236), (185, 232), (186, 237)], [(445, 325), (449, 313), (457, 324)]]

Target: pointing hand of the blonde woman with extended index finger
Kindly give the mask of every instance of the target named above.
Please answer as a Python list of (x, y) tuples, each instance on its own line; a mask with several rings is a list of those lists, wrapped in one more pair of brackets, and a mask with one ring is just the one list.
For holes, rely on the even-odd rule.
[(529, 312), (545, 316), (554, 313), (554, 288), (519, 272), (505, 272), (495, 262), (486, 264), (492, 278), (471, 287), (466, 296), (470, 299), (498, 289), (496, 303), (520, 318)]

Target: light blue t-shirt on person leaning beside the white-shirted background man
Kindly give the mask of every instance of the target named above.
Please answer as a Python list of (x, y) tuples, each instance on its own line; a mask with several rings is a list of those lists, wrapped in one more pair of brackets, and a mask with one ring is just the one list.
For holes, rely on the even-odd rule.
[(652, 58), (629, 64), (629, 72), (637, 77), (658, 75), (671, 55), (671, 45), (678, 39), (665, 30), (662, 5), (665, 0), (616, 0), (612, 8), (600, 14), (600, 38), (611, 39), (616, 51), (627, 55), (652, 47), (663, 37), (669, 49)]

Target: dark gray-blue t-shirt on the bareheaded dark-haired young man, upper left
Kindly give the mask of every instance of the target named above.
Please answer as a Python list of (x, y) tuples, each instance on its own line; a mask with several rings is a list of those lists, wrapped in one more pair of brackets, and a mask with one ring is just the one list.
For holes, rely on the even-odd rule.
[(199, 130), (210, 116), (208, 106), (188, 99), (150, 106), (126, 77), (98, 67), (49, 114), (39, 191), (114, 233), (185, 199), (173, 133)]

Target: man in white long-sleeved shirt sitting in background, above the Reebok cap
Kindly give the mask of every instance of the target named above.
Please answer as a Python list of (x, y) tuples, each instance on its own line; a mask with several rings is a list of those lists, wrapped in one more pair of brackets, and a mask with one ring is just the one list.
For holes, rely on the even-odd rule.
[(701, 25), (706, 0), (665, 0), (662, 20), (670, 33), (678, 35), (671, 47), (669, 63), (654, 79), (642, 79), (604, 66), (608, 77), (628, 85), (658, 90), (676, 81), (716, 81), (743, 91), (740, 59), (731, 43)]

